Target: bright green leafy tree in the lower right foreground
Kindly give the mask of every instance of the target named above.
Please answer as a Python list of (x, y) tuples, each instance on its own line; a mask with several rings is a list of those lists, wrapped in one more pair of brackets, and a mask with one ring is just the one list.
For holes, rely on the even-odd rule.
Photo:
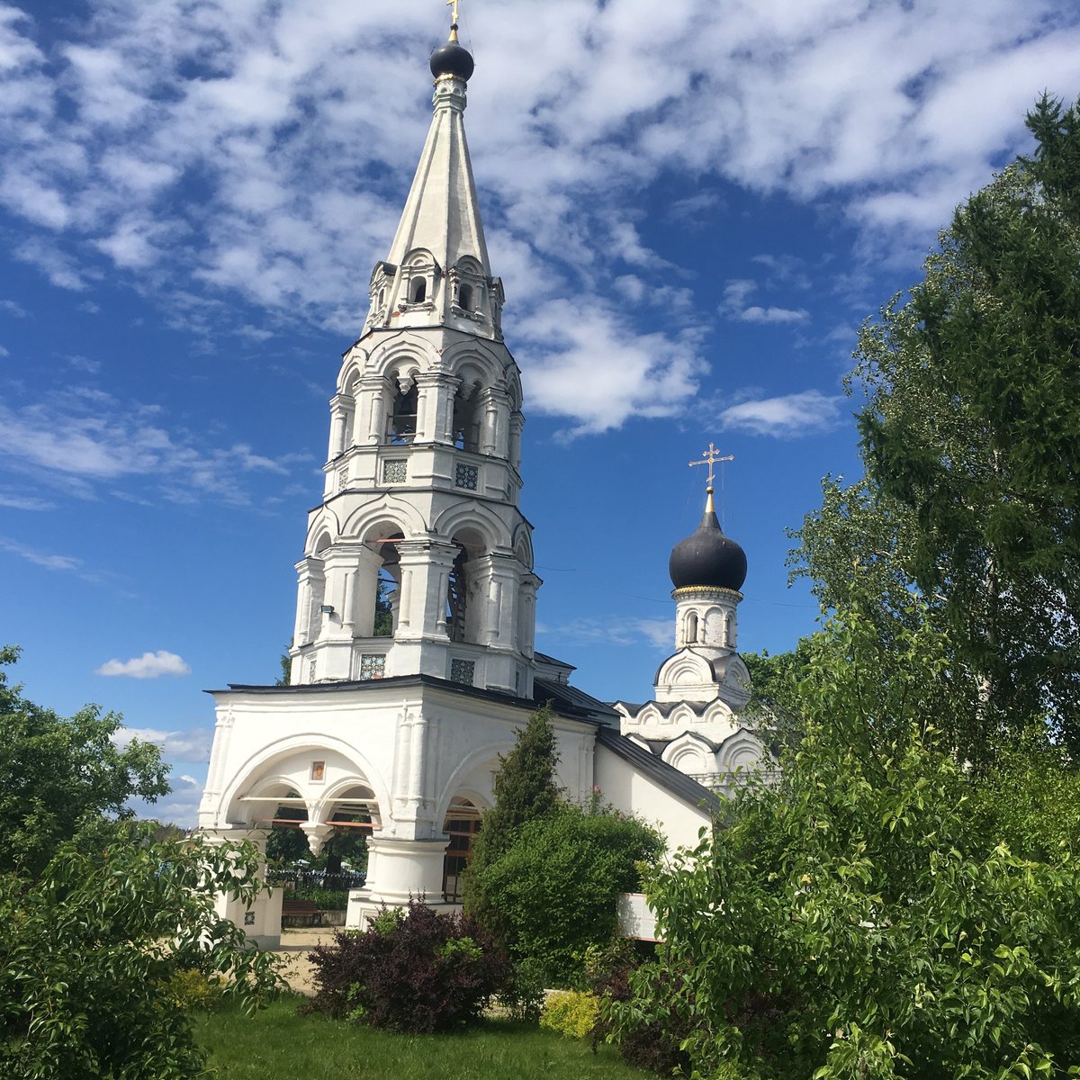
[[(648, 886), (665, 943), (610, 1007), (690, 1032), (696, 1075), (1067, 1075), (1080, 1061), (1080, 867), (1012, 853), (932, 727), (955, 647), (845, 615), (812, 644), (779, 780)], [(903, 653), (896, 658), (896, 650)], [(990, 823), (993, 825), (993, 823)]]

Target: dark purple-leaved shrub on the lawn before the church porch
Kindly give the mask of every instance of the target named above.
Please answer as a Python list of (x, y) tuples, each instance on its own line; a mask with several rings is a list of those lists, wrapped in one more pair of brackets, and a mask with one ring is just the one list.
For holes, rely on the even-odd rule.
[(416, 901), (384, 910), (364, 933), (336, 934), (311, 960), (318, 990), (309, 1008), (410, 1032), (475, 1023), (509, 974), (474, 919)]

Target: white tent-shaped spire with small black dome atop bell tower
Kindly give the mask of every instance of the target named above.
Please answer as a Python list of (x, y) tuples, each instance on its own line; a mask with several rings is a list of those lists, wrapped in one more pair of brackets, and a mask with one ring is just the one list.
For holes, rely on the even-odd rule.
[[(463, 63), (462, 54), (469, 64)], [(435, 111), (387, 257), (395, 266), (420, 247), (431, 252), (444, 270), (463, 255), (471, 255), (485, 275), (491, 273), (461, 117), (464, 72), (468, 68), (471, 73), (471, 62), (469, 53), (453, 39), (432, 54), (432, 69), (441, 69), (435, 81)]]

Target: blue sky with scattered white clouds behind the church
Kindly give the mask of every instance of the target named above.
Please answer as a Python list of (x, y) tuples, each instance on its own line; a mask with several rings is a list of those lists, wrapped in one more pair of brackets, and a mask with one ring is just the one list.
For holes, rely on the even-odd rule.
[[(1080, 94), (1071, 0), (461, 0), (522, 369), (541, 650), (644, 701), (710, 443), (742, 650), (860, 473), (843, 376), (953, 207)], [(431, 117), (440, 0), (0, 0), (0, 643), (121, 712), (192, 824), (203, 691), (272, 683), (328, 399)]]

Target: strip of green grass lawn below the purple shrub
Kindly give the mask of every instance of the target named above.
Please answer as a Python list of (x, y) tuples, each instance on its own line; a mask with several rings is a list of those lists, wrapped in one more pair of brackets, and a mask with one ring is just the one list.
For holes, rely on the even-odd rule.
[(286, 998), (255, 1016), (224, 1010), (195, 1035), (218, 1080), (643, 1080), (611, 1047), (508, 1021), (459, 1035), (395, 1035), (298, 1016)]

